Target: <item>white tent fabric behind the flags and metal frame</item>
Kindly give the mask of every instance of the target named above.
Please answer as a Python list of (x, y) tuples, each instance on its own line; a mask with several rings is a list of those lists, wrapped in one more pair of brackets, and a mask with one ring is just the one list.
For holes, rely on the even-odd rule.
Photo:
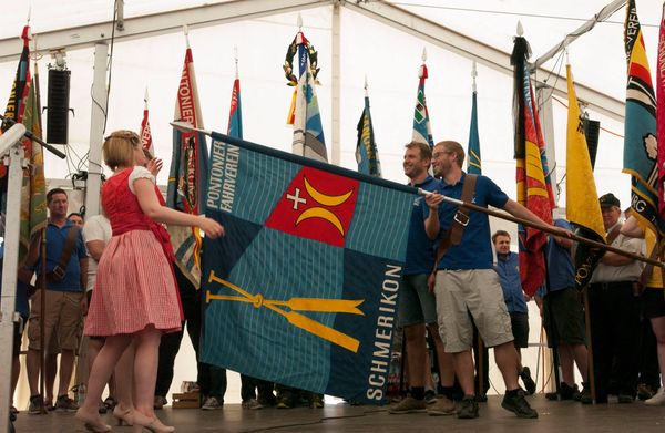
[[(610, 0), (560, 0), (556, 2), (524, 0), (402, 0), (391, 3), (412, 13), (478, 39), (510, 53), (512, 37), (520, 20), (524, 35), (534, 52), (532, 61), (559, 43), (565, 34), (600, 11)], [(125, 18), (165, 10), (201, 6), (202, 0), (126, 0)], [(209, 3), (209, 1), (207, 2)], [(213, 3), (215, 3), (213, 1)], [(109, 0), (20, 1), (11, 12), (0, 14), (0, 39), (16, 39), (30, 12), (32, 32), (109, 21), (113, 2)], [(471, 10), (472, 9), (472, 10)], [(652, 73), (655, 76), (656, 43), (662, 2), (637, 0)], [(536, 17), (539, 16), (539, 17)], [(321, 68), (317, 89), (325, 136), (331, 137), (331, 8), (301, 12), (303, 30), (319, 52)], [(615, 99), (625, 95), (626, 61), (623, 51), (622, 9), (611, 22), (597, 24), (570, 47), (570, 62), (575, 79)], [(286, 125), (291, 87), (286, 85), (282, 64), (286, 49), (297, 31), (297, 13), (284, 13), (226, 24), (190, 30), (190, 41), (201, 95), (204, 124), (225, 132), (232, 83), (235, 75), (234, 47), (239, 56), (244, 135), (246, 140), (289, 151), (291, 130)], [(430, 78), (427, 102), (434, 141), (457, 140), (467, 145), (471, 112), (471, 61), (421, 39), (406, 34), (385, 23), (341, 9), (341, 87), (340, 145), (341, 165), (356, 168), (356, 124), (362, 111), (365, 76), (369, 82), (372, 121), (386, 178), (406, 182), (401, 168), (403, 144), (410, 141), (418, 85), (418, 68), (427, 49)], [(139, 130), (143, 95), (150, 91), (150, 116), (158, 157), (166, 167), (157, 181), (165, 184), (171, 158), (171, 126), (175, 93), (181, 76), (185, 39), (182, 33), (133, 39), (113, 45), (106, 134), (116, 128)], [(47, 101), (47, 65), (39, 61), (42, 103)], [(93, 82), (93, 49), (66, 50), (72, 71), (70, 106), (69, 163), (47, 156), (47, 176), (65, 178), (79, 169), (88, 169), (84, 158), (90, 145), (90, 97)], [(560, 70), (562, 59), (554, 58), (546, 68)], [(0, 109), (4, 107), (16, 73), (17, 61), (0, 62)], [(564, 73), (564, 69), (561, 69)], [(545, 78), (539, 76), (539, 80)], [(562, 100), (565, 102), (564, 100)], [(479, 128), (483, 174), (492, 177), (510, 196), (515, 195), (512, 126), (512, 79), (493, 69), (478, 66)], [(553, 103), (553, 133), (556, 148), (560, 206), (565, 206), (565, 124), (566, 109)], [(595, 178), (598, 194), (612, 192), (627, 206), (630, 177), (621, 174), (623, 124), (590, 111), (608, 132), (601, 133)], [(44, 123), (45, 125), (45, 123)], [(552, 162), (551, 166), (554, 165)], [(538, 317), (535, 315), (535, 317)], [(182, 357), (178, 359), (182, 361)], [(182, 365), (181, 365), (182, 367)], [(181, 370), (182, 371), (182, 370)], [(176, 377), (191, 380), (188, 377)], [(237, 398), (229, 395), (231, 400)]]

